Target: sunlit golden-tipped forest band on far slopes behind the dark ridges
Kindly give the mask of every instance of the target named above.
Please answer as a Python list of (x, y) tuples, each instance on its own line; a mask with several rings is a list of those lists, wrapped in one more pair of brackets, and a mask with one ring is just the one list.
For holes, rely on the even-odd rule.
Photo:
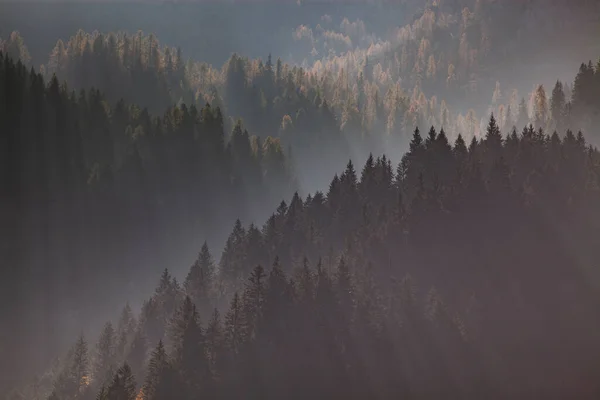
[[(206, 102), (218, 106), (226, 130), (242, 118), (251, 131), (278, 135), (284, 148), (291, 146), (306, 187), (313, 183), (315, 157), (327, 160), (327, 174), (348, 155), (362, 160), (369, 152), (387, 151), (393, 158), (408, 144), (414, 126), (443, 127), (452, 140), (459, 133), (470, 140), (484, 134), (493, 111), (503, 130), (529, 122), (550, 131), (574, 127), (563, 121), (568, 110), (565, 116), (550, 114), (551, 99), (543, 87), (519, 95), (509, 87), (501, 91), (497, 82), (514, 84), (502, 74), (506, 55), (518, 59), (517, 54), (534, 53), (536, 38), (554, 37), (552, 31), (538, 29), (539, 21), (565, 12), (580, 21), (595, 9), (586, 2), (565, 10), (561, 4), (540, 6), (536, 1), (433, 1), (386, 40), (370, 34), (362, 20), (346, 18), (336, 27), (324, 15), (317, 27), (302, 25), (294, 32), (299, 42), (310, 42), (320, 54), (302, 67), (270, 56), (264, 62), (234, 54), (216, 68), (184, 62), (179, 48), (161, 48), (154, 35), (79, 31), (67, 44), (58, 41), (44, 68), (48, 77), (56, 72), (76, 89), (94, 85), (111, 101), (124, 97), (154, 112), (181, 101), (198, 108)], [(351, 45), (334, 50), (340, 41)], [(570, 101), (567, 89), (565, 103)], [(465, 99), (479, 105), (469, 109)], [(320, 185), (310, 189), (314, 187)]]

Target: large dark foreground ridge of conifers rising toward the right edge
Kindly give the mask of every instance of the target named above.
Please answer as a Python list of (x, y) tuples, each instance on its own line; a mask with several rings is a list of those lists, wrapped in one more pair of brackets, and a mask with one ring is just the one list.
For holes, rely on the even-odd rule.
[[(183, 285), (165, 270), (137, 325), (123, 311), (128, 345), (77, 390), (134, 398), (134, 370), (146, 399), (595, 398), (599, 183), (580, 132), (415, 129), (397, 167), (349, 162), (262, 229), (237, 221), (218, 268), (204, 245)], [(54, 396), (74, 398), (77, 359)]]

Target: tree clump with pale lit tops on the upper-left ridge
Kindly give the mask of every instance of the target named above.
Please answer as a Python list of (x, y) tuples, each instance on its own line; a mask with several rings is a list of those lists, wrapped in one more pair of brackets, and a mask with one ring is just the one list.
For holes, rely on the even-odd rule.
[(76, 90), (99, 88), (109, 101), (125, 98), (161, 113), (179, 102), (193, 104), (181, 49), (161, 48), (154, 35), (103, 35), (83, 31), (59, 40), (45, 66)]

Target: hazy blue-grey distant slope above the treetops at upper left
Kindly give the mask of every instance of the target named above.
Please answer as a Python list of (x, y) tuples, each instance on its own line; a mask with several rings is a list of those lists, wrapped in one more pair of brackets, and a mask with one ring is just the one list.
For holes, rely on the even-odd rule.
[[(32, 4), (35, 3), (35, 7)], [(298, 25), (316, 25), (324, 15), (336, 24), (344, 18), (364, 20), (370, 31), (383, 36), (422, 12), (421, 0), (340, 2), (304, 0), (261, 1), (11, 1), (0, 2), (0, 36), (19, 30), (35, 38), (30, 46), (35, 65), (45, 63), (58, 38), (86, 31), (153, 32), (171, 46), (181, 46), (194, 59), (220, 65), (231, 53), (249, 57), (265, 52), (286, 62), (302, 62), (294, 46)]]

